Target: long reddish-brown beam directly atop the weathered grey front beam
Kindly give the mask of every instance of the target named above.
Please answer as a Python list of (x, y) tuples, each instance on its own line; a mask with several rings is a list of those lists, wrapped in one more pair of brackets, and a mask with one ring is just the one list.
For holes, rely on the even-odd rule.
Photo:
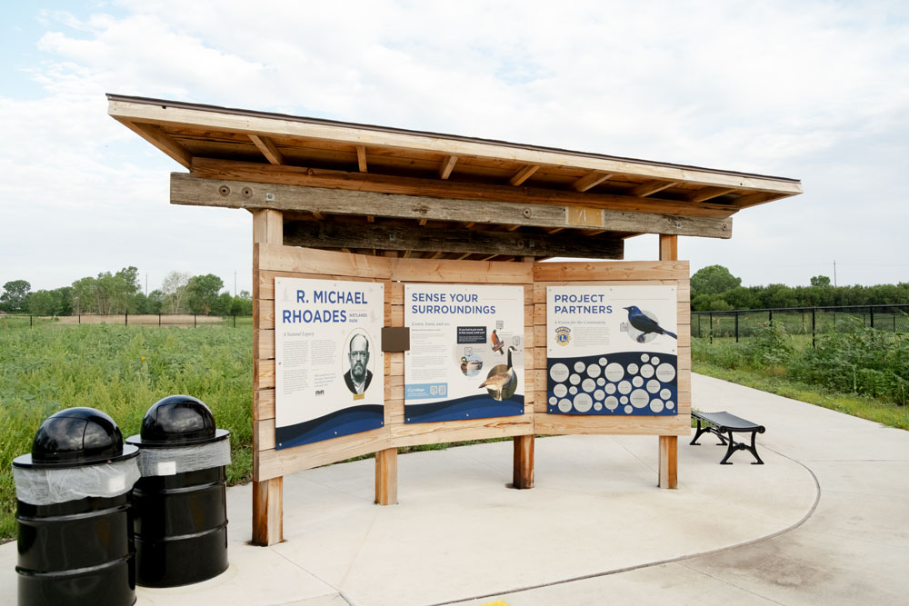
[[(511, 187), (474, 184), (439, 179), (390, 176), (385, 174), (345, 173), (299, 166), (274, 166), (248, 162), (228, 162), (194, 158), (192, 174), (208, 179), (249, 181), (261, 184), (307, 185), (332, 189), (408, 194), (459, 200), (489, 200), (541, 205), (584, 205), (631, 213), (681, 214), (690, 217), (725, 218), (735, 213), (728, 204), (689, 203), (629, 195), (587, 194), (540, 187)], [(694, 234), (685, 234), (694, 235)]]

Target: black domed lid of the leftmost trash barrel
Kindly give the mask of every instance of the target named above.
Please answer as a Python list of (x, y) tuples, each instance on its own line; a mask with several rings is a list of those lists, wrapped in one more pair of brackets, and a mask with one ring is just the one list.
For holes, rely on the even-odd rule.
[(60, 469), (124, 461), (138, 448), (124, 445), (116, 422), (95, 408), (55, 412), (35, 432), (32, 452), (16, 457), (14, 467)]

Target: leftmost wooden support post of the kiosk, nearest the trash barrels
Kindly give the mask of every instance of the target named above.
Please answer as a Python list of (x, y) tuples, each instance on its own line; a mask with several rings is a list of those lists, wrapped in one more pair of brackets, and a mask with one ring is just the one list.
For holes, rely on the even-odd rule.
[[(253, 243), (284, 243), (284, 216), (281, 211), (270, 209), (253, 211)], [(255, 256), (255, 255), (254, 255)], [(259, 389), (259, 268), (253, 266), (253, 391)], [(272, 352), (274, 357), (274, 352)], [(259, 449), (258, 432), (253, 421), (253, 448)], [(274, 447), (273, 447), (274, 448)], [(284, 541), (284, 478), (253, 481), (253, 543), (274, 545)]]

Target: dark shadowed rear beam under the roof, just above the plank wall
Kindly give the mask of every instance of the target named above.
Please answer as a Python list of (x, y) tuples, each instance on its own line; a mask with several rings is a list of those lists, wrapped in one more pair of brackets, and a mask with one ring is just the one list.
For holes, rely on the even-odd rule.
[(286, 221), (284, 240), (307, 248), (360, 248), (419, 253), (483, 253), (491, 255), (572, 256), (621, 259), (621, 238), (584, 238), (571, 234), (511, 233), (427, 229), (386, 224)]

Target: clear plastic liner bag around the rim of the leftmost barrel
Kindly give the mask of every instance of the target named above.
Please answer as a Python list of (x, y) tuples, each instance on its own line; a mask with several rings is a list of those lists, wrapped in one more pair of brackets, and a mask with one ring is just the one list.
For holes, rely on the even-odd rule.
[(53, 505), (85, 497), (120, 496), (133, 490), (140, 477), (136, 461), (132, 457), (64, 469), (13, 467), (15, 497), (32, 505)]

